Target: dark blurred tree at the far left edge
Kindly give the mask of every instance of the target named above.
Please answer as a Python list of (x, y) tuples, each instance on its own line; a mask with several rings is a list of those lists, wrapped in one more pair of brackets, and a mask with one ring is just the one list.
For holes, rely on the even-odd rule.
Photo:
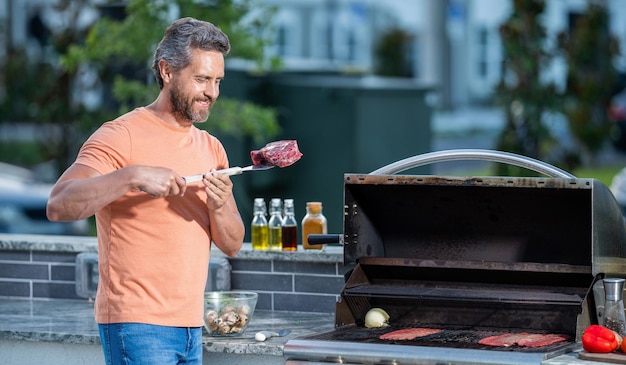
[(106, 115), (101, 110), (86, 110), (75, 102), (76, 75), (59, 66), (58, 55), (84, 38), (85, 31), (78, 25), (78, 19), (86, 6), (88, 0), (58, 1), (55, 10), (66, 14), (67, 25), (52, 32), (50, 46), (42, 50), (40, 57), (29, 56), (23, 48), (7, 49), (8, 56), (0, 65), (5, 75), (1, 85), (0, 122), (27, 122), (36, 126), (35, 137), (46, 137), (37, 139), (41, 141), (40, 148), (29, 148), (39, 156), (11, 162), (35, 163), (57, 158), (69, 161), (68, 156), (81, 135), (81, 126), (92, 119), (102, 121)]

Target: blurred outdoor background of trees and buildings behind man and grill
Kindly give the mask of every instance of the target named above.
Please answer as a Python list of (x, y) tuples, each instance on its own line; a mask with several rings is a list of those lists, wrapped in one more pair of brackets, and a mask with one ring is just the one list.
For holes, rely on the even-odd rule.
[[(0, 232), (94, 234), (47, 222), (49, 188), (91, 132), (154, 99), (152, 52), (182, 16), (231, 39), (200, 126), (231, 165), (278, 139), (303, 153), (232, 178), (244, 221), (255, 197), (292, 198), (299, 218), (321, 201), (340, 232), (344, 173), (431, 151), (513, 152), (607, 185), (626, 167), (620, 0), (0, 0)], [(407, 173), (534, 176), (480, 161)]]

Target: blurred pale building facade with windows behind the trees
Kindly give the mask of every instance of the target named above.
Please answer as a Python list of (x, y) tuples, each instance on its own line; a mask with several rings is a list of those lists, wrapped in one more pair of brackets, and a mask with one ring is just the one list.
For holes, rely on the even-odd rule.
[[(407, 75), (438, 85), (433, 102), (456, 108), (488, 102), (500, 80), (502, 49), (498, 28), (512, 10), (511, 0), (257, 0), (277, 9), (268, 35), (267, 53), (279, 56), (286, 70), (369, 74), (376, 70), (376, 47), (393, 30), (407, 35)], [(590, 0), (547, 0), (544, 25), (548, 37), (571, 26), (572, 17)], [(64, 24), (54, 11), (56, 0), (0, 0), (0, 44), (38, 49), (38, 29)], [(102, 1), (93, 1), (94, 4)], [(611, 15), (610, 31), (620, 41), (616, 66), (626, 71), (626, 7), (604, 0)], [(90, 24), (97, 11), (79, 22)], [(40, 21), (44, 28), (37, 28)], [(3, 47), (4, 48), (4, 47)], [(33, 51), (34, 52), (34, 51)], [(0, 49), (0, 56), (5, 49)], [(563, 85), (567, 70), (556, 59), (547, 78)]]

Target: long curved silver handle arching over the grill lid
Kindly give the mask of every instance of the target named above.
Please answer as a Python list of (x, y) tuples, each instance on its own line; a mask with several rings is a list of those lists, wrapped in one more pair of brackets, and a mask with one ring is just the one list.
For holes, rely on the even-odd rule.
[(393, 175), (414, 167), (429, 165), (437, 162), (478, 160), (489, 162), (507, 163), (523, 167), (554, 178), (575, 179), (576, 176), (558, 167), (547, 164), (534, 158), (517, 155), (510, 152), (482, 150), (482, 149), (457, 149), (424, 153), (396, 161), (378, 170), (370, 172), (370, 175)]

